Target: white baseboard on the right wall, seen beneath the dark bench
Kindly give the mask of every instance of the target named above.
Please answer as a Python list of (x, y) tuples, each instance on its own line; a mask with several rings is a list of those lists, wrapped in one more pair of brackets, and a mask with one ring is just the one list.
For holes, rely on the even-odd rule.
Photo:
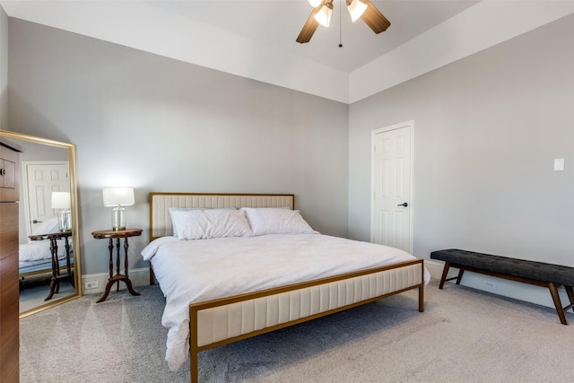
[[(425, 259), (424, 265), (431, 273), (432, 278), (440, 279), (445, 263), (434, 259)], [(458, 269), (451, 268), (448, 271), (448, 278), (457, 276)], [(455, 283), (451, 281), (448, 283)], [(483, 292), (490, 292), (515, 300), (525, 300), (526, 302), (555, 309), (554, 302), (547, 288), (534, 286), (532, 284), (509, 281), (508, 279), (496, 278), (490, 275), (465, 272), (460, 283), (463, 286), (471, 287)], [(563, 287), (558, 289), (560, 293), (562, 307), (570, 301)]]

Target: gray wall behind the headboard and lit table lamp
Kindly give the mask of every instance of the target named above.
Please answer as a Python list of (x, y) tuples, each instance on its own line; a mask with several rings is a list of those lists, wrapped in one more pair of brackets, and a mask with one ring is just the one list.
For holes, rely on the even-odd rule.
[(102, 187), (135, 187), (134, 268), (150, 191), (294, 193), (347, 235), (347, 105), (17, 19), (9, 47), (9, 130), (76, 144), (83, 274), (108, 267)]

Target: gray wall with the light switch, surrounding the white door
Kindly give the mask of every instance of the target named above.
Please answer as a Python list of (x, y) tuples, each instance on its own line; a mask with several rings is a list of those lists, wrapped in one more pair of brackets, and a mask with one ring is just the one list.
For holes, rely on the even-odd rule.
[(352, 104), (350, 237), (370, 239), (371, 131), (413, 119), (415, 256), (574, 266), (572, 41), (569, 16)]

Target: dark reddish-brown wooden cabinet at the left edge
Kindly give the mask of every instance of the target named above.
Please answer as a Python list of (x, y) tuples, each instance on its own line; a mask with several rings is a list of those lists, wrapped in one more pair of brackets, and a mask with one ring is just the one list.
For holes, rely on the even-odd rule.
[(0, 137), (0, 377), (19, 380), (18, 201), (22, 148)]

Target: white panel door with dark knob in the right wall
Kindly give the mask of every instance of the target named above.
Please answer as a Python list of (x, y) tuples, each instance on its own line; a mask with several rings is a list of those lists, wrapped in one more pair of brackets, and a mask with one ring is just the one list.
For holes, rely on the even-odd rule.
[(373, 132), (371, 241), (411, 253), (413, 123)]

